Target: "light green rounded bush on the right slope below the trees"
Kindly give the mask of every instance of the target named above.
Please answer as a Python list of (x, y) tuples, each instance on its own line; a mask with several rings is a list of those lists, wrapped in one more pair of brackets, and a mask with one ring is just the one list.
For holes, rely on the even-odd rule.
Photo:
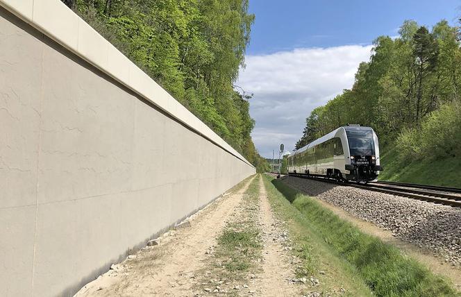
[(461, 157), (461, 105), (447, 103), (419, 128), (405, 128), (396, 140), (402, 160)]

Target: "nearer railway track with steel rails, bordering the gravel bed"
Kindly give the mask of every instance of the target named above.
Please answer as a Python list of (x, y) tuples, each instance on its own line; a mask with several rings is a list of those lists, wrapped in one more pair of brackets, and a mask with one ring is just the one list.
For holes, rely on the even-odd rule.
[(424, 192), (424, 190), (417, 189), (405, 189), (398, 187), (386, 187), (386, 186), (377, 186), (373, 184), (362, 185), (358, 183), (342, 183), (337, 180), (332, 180), (326, 177), (319, 176), (307, 176), (300, 173), (290, 173), (289, 176), (296, 176), (299, 178), (308, 178), (310, 180), (318, 180), (324, 183), (334, 183), (336, 185), (344, 185), (346, 187), (357, 187), (360, 189), (367, 189), (369, 191), (381, 192), (386, 194), (392, 194), (395, 196), (403, 196), (407, 198), (413, 198), (421, 201), (427, 201), (437, 204), (449, 205), (453, 207), (461, 207), (461, 196), (455, 196), (446, 193), (436, 193), (436, 192)]

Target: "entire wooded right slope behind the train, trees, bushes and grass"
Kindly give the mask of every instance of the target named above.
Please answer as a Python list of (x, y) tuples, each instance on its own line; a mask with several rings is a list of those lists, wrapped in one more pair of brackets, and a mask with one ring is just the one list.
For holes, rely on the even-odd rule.
[(458, 185), (460, 29), (445, 20), (431, 30), (405, 21), (398, 37), (376, 38), (351, 90), (312, 110), (305, 124), (296, 148), (346, 124), (370, 126), (380, 138), (383, 177)]

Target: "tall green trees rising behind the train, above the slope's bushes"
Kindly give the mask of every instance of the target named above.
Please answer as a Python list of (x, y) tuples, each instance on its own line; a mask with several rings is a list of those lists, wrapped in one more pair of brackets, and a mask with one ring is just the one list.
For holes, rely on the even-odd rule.
[[(351, 90), (311, 112), (296, 148), (347, 123), (371, 126), (380, 136), (380, 144), (394, 143), (404, 130), (413, 131), (412, 135), (427, 130), (421, 125), (429, 125), (430, 114), (460, 101), (458, 33), (458, 27), (444, 20), (431, 32), (414, 21), (405, 21), (399, 37), (376, 38), (371, 58), (360, 63)], [(430, 123), (442, 127), (439, 121)]]

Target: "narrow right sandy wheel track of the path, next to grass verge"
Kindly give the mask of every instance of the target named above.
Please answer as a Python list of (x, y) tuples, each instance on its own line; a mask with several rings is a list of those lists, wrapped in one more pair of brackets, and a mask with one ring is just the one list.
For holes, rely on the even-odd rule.
[(261, 296), (300, 296), (301, 291), (290, 280), (294, 271), (290, 266), (290, 256), (280, 241), (284, 241), (287, 232), (281, 230), (280, 223), (274, 219), (271, 206), (267, 200), (265, 185), (260, 183), (260, 223), (264, 248), (262, 256), (261, 284), (258, 292)]

